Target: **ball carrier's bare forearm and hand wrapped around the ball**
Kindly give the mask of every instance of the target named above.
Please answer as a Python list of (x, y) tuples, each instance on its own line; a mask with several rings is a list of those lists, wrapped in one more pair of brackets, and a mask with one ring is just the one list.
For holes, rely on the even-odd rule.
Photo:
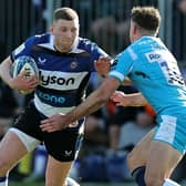
[(11, 72), (12, 60), (8, 56), (0, 64), (0, 76), (11, 87), (22, 91), (30, 91), (35, 87), (37, 80), (34, 76), (25, 79), (28, 72), (20, 73), (17, 78), (12, 78)]

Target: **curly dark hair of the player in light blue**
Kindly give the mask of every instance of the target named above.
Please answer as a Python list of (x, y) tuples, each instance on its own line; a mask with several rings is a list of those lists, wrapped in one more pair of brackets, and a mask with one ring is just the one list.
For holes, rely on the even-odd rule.
[(154, 7), (134, 7), (131, 19), (145, 30), (157, 31), (161, 24), (159, 11)]

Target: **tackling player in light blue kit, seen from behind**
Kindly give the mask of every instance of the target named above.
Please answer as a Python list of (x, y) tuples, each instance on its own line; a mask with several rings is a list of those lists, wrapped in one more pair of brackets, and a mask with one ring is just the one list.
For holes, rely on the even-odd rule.
[(128, 76), (144, 97), (133, 94), (130, 101), (126, 95), (126, 105), (143, 105), (147, 101), (157, 116), (157, 127), (128, 155), (130, 169), (140, 186), (178, 185), (169, 177), (186, 151), (186, 86), (176, 59), (156, 38), (159, 22), (157, 9), (133, 8), (132, 44), (116, 56), (115, 66), (102, 85), (69, 114), (54, 115), (41, 125), (42, 131), (49, 133), (65, 128), (69, 123), (101, 107)]

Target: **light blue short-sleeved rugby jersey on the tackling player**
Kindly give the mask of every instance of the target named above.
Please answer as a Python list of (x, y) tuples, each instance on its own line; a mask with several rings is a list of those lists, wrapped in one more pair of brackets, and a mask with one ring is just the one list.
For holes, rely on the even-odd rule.
[[(186, 112), (186, 86), (177, 62), (158, 38), (143, 37), (120, 53), (108, 76), (127, 75), (156, 113)], [(179, 110), (182, 107), (182, 111)]]

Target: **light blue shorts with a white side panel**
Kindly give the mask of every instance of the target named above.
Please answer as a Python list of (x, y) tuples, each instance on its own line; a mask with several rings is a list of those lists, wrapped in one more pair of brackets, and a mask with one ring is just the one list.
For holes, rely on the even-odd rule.
[[(179, 113), (178, 113), (179, 112)], [(170, 112), (169, 112), (170, 113)], [(186, 152), (186, 111), (167, 114), (162, 113), (157, 116), (157, 127), (154, 141), (169, 144), (182, 154)]]

